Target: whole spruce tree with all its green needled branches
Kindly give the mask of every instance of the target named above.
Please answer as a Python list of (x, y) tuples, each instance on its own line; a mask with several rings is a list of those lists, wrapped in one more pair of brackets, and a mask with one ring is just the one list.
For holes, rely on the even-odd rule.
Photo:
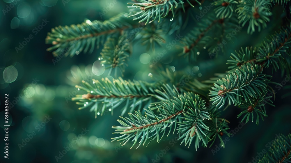
[[(230, 122), (222, 111), (232, 105), (239, 107), (242, 112), (237, 118), (241, 122), (255, 121), (259, 125), (267, 117), (265, 106), (275, 107), (272, 87), (276, 83), (272, 82), (272, 74), (280, 73), (282, 79), (290, 75), (290, 4), (289, 0), (135, 0), (128, 3), (126, 13), (104, 22), (85, 20), (55, 27), (47, 35), (46, 43), (53, 45), (47, 50), (53, 51), (54, 56), (73, 57), (103, 48), (96, 55), (109, 69), (108, 76), (114, 71), (115, 79), (83, 81), (84, 86), (76, 88), (84, 93), (72, 101), (81, 105), (79, 109), (94, 111), (95, 117), (108, 111), (120, 114), (119, 125), (112, 127), (116, 130), (113, 134), (117, 134), (113, 141), (137, 148), (176, 134), (181, 144), (195, 144), (196, 150), (199, 145), (210, 147), (216, 140), (224, 147), (222, 137), (230, 137)], [(226, 61), (227, 72), (199, 81), (187, 78), (186, 69), (150, 64), (159, 76), (154, 82), (123, 78), (131, 57), (136, 55), (132, 53), (135, 42), (141, 41), (154, 52), (156, 45), (163, 47), (168, 41), (167, 35), (178, 36), (183, 31), (187, 34), (178, 39), (180, 52), (169, 55), (193, 66), (225, 53), (231, 43), (227, 44), (224, 38), (232, 38), (229, 34), (233, 31), (246, 29), (248, 38), (252, 38), (271, 26), (276, 6), (283, 8), (280, 29), (274, 28), (276, 31), (260, 45), (225, 54), (230, 57)], [(196, 22), (189, 25), (189, 21)], [(272, 70), (272, 74), (266, 70)], [(290, 162), (290, 150), (290, 134), (280, 135), (259, 162)]]

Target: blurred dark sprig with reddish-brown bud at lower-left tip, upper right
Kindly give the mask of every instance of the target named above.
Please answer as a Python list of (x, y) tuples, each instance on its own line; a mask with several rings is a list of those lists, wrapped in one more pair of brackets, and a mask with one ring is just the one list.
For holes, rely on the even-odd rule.
[[(196, 19), (199, 20), (201, 17), (196, 15)], [(232, 32), (236, 27), (237, 20), (235, 17), (217, 19), (214, 13), (209, 13), (207, 14), (206, 20), (197, 23), (197, 26), (182, 39), (181, 43), (184, 46), (183, 52), (180, 55), (184, 55), (184, 57), (188, 56), (189, 60), (191, 58), (196, 60), (200, 54), (199, 51), (208, 48), (210, 58), (212, 58), (211, 55), (218, 54), (215, 50), (217, 49), (217, 44), (222, 44), (225, 34)], [(214, 52), (215, 54), (211, 54)]]

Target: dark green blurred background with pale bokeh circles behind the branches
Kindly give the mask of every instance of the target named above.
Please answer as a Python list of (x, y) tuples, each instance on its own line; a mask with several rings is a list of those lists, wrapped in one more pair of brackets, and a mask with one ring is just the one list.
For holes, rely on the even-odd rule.
[[(61, 163), (97, 163), (97, 162), (251, 162), (257, 152), (266, 149), (266, 143), (272, 141), (275, 134), (291, 132), (290, 96), (287, 86), (277, 90), (275, 105), (267, 106), (268, 117), (257, 126), (255, 123), (244, 125), (226, 142), (226, 147), (213, 154), (218, 149), (219, 141), (211, 148), (189, 148), (173, 143), (177, 135), (164, 137), (162, 141), (153, 141), (147, 147), (130, 149), (128, 143), (121, 147), (117, 142), (111, 142), (115, 137), (111, 128), (118, 125), (118, 111), (107, 112), (95, 119), (95, 114), (88, 109), (78, 110), (78, 106), (70, 99), (78, 92), (74, 85), (80, 85), (81, 80), (91, 82), (91, 79), (101, 79), (107, 76), (107, 70), (95, 75), (98, 68), (100, 49), (92, 54), (79, 54), (74, 57), (64, 57), (54, 63), (51, 52), (46, 49), (51, 45), (45, 44), (47, 32), (55, 26), (78, 24), (85, 19), (106, 20), (120, 12), (127, 12), (129, 0), (118, 0), (110, 7), (108, 13), (102, 14), (104, 8), (110, 6), (113, 0), (1, 0), (0, 13), (0, 119), (1, 127), (4, 122), (4, 94), (9, 93), (9, 159), (4, 158), (4, 131), (1, 131), (2, 162), (61, 162)], [(13, 5), (12, 5), (13, 4)], [(12, 7), (13, 6), (13, 7)], [(5, 10), (5, 11), (3, 11)], [(9, 11), (8, 11), (9, 10)], [(197, 10), (195, 8), (193, 10)], [(174, 47), (159, 62), (162, 66), (174, 66), (175, 70), (196, 67), (198, 80), (209, 79), (214, 73), (227, 70), (226, 60), (230, 53), (240, 47), (259, 45), (265, 36), (280, 28), (281, 15), (276, 14), (268, 28), (259, 34), (247, 35), (246, 28), (228, 42), (228, 49), (218, 57), (210, 59), (207, 50), (200, 52), (195, 63), (189, 63), (183, 57), (177, 57), (181, 48)], [(43, 21), (47, 24), (42, 29), (35, 29)], [(202, 19), (203, 20), (203, 19)], [(189, 21), (188, 29), (195, 21)], [(33, 37), (29, 38), (32, 35)], [(181, 32), (182, 36), (187, 35)], [(165, 36), (170, 42), (175, 34)], [(28, 40), (27, 45), (20, 48), (20, 43)], [(166, 42), (166, 44), (167, 44)], [(165, 44), (165, 45), (166, 45)], [(19, 49), (15, 49), (18, 47)], [(149, 73), (155, 72), (149, 64), (141, 63), (143, 53), (150, 54), (154, 59), (165, 49), (157, 47), (155, 52), (147, 50), (139, 42), (134, 44), (133, 55), (129, 67), (125, 69), (124, 79), (153, 81)], [(171, 53), (170, 53), (171, 52)], [(97, 62), (95, 62), (97, 61)], [(93, 72), (92, 72), (93, 70)], [(270, 70), (266, 70), (271, 74)], [(282, 82), (280, 73), (275, 73), (272, 80)], [(290, 85), (290, 82), (286, 85)], [(116, 109), (117, 110), (117, 109)], [(229, 107), (223, 115), (230, 121), (230, 130), (239, 125), (237, 115), (241, 110)], [(85, 132), (86, 131), (86, 132)], [(3, 133), (3, 134), (2, 134)], [(224, 137), (225, 138), (225, 137)], [(162, 153), (166, 147), (170, 150)], [(64, 155), (60, 152), (67, 149)], [(64, 152), (63, 152), (64, 153)], [(161, 154), (162, 153), (162, 154)], [(161, 158), (159, 158), (159, 157)], [(57, 157), (60, 157), (58, 159)]]

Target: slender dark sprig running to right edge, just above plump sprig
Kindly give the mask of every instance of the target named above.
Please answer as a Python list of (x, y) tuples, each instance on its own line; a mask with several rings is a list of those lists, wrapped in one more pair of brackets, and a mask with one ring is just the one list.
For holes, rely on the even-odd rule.
[(231, 54), (231, 60), (228, 60), (230, 71), (243, 66), (246, 63), (255, 63), (262, 67), (268, 68), (273, 64), (274, 71), (281, 69), (282, 75), (285, 71), (290, 73), (290, 64), (287, 58), (290, 58), (291, 46), (291, 27), (282, 27), (282, 29), (270, 36), (271, 40), (265, 40), (258, 48), (246, 47), (245, 50)]

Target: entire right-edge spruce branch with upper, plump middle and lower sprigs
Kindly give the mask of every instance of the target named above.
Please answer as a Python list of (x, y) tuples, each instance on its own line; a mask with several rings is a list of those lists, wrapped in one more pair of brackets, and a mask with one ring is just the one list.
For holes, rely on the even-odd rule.
[(228, 60), (228, 63), (231, 64), (229, 66), (230, 74), (227, 75), (227, 79), (222, 78), (214, 83), (215, 88), (212, 87), (214, 91), (210, 91), (209, 95), (214, 97), (210, 101), (213, 101), (216, 106), (220, 105), (219, 108), (221, 108), (228, 100), (228, 104), (232, 102), (245, 109), (238, 115), (238, 118), (244, 115), (242, 121), (245, 120), (247, 123), (250, 116), (253, 121), (255, 113), (256, 124), (258, 124), (260, 117), (263, 119), (263, 116), (267, 116), (265, 104), (274, 106), (270, 100), (272, 96), (266, 95), (267, 92), (272, 92), (267, 89), (269, 79), (266, 77), (270, 76), (263, 75), (262, 70), (273, 63), (275, 67), (273, 70), (287, 68), (289, 72), (290, 64), (282, 55), (290, 56), (290, 31), (290, 27), (283, 28), (280, 32), (272, 35), (271, 43), (264, 41), (258, 49), (246, 47), (236, 54), (231, 54), (232, 60)]

